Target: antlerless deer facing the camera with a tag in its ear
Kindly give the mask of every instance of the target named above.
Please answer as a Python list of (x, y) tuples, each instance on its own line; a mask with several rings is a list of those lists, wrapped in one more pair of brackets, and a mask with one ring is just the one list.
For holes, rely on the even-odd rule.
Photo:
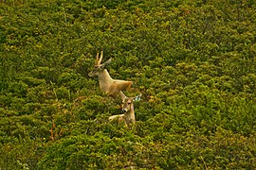
[(108, 119), (110, 121), (117, 120), (118, 122), (124, 122), (126, 127), (129, 127), (130, 124), (135, 124), (136, 123), (136, 118), (135, 118), (135, 109), (134, 109), (134, 101), (140, 100), (141, 93), (138, 94), (136, 97), (127, 97), (125, 96), (124, 93), (120, 92), (120, 96), (122, 99), (122, 112), (123, 114), (119, 115), (113, 115), (110, 116)]

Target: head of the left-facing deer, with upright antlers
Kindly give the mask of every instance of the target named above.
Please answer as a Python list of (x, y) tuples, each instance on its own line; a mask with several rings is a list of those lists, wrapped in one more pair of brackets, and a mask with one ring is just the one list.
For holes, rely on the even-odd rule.
[(88, 74), (88, 76), (99, 76), (99, 74), (101, 74), (101, 72), (105, 69), (105, 66), (110, 64), (111, 59), (108, 59), (107, 61), (101, 64), (102, 58), (103, 58), (103, 51), (101, 51), (100, 59), (99, 59), (99, 53), (97, 53), (94, 69)]

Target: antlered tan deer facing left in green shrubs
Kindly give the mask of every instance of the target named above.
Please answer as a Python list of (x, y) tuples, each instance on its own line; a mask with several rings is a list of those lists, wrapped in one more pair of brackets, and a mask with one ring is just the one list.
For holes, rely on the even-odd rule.
[(110, 96), (117, 96), (120, 91), (130, 89), (133, 82), (113, 79), (109, 75), (108, 71), (105, 69), (105, 66), (111, 62), (111, 59), (108, 59), (107, 61), (101, 64), (102, 58), (103, 52), (101, 51), (100, 59), (99, 53), (97, 53), (94, 70), (90, 72), (88, 76), (98, 76), (101, 90)]

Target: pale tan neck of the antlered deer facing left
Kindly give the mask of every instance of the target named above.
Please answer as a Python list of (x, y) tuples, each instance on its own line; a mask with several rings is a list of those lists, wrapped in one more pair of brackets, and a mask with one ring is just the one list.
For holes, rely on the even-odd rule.
[(108, 71), (104, 69), (99, 74), (99, 82), (101, 90), (106, 93), (114, 83), (114, 79), (109, 75)]

